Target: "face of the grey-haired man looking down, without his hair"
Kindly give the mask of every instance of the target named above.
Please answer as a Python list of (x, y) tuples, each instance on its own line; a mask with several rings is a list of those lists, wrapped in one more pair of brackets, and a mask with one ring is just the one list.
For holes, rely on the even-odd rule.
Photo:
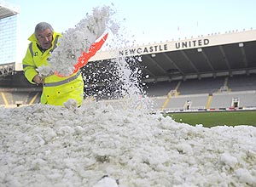
[(46, 29), (44, 31), (38, 31), (37, 38), (40, 46), (44, 49), (48, 49), (51, 47), (51, 42), (53, 40), (53, 33), (50, 29)]

